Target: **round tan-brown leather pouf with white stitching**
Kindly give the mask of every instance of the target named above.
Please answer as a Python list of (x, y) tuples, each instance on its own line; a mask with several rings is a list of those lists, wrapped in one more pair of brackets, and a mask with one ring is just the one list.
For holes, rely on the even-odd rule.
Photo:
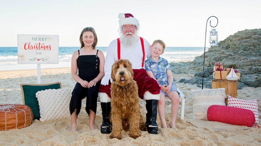
[(0, 104), (0, 130), (30, 126), (34, 116), (30, 107), (21, 104)]

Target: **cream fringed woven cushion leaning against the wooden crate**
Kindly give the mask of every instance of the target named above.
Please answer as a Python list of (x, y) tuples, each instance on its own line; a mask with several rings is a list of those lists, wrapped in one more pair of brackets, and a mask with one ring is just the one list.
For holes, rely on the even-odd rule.
[(208, 107), (211, 105), (226, 105), (225, 88), (198, 90), (191, 89), (191, 92), (193, 99), (193, 115), (195, 119), (208, 120)]

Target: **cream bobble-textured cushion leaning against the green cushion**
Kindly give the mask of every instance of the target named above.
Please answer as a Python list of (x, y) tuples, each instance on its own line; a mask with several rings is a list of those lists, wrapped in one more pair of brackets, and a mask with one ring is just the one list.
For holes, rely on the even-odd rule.
[(46, 89), (36, 92), (40, 107), (40, 121), (57, 120), (70, 116), (71, 89)]

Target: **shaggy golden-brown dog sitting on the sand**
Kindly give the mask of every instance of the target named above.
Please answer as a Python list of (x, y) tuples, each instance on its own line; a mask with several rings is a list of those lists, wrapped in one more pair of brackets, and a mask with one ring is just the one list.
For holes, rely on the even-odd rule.
[(139, 108), (138, 86), (133, 80), (132, 64), (126, 59), (115, 61), (111, 68), (111, 114), (112, 133), (110, 138), (121, 139), (121, 130), (129, 130), (136, 139), (147, 128)]

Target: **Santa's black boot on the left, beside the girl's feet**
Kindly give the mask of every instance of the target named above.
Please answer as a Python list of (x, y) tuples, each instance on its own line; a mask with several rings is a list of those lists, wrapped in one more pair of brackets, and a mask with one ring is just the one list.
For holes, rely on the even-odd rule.
[(101, 124), (101, 133), (108, 134), (111, 133), (112, 125), (110, 122), (110, 112), (111, 112), (111, 102), (101, 102), (102, 110), (102, 124)]

